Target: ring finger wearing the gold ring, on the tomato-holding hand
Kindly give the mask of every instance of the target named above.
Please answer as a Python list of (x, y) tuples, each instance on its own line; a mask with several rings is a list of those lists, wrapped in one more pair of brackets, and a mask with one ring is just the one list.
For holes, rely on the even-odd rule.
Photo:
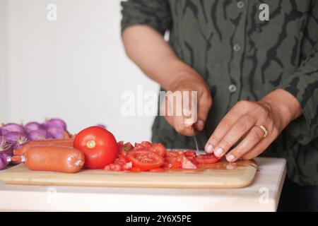
[(255, 145), (257, 145), (262, 140), (267, 139), (264, 138), (264, 131), (258, 126), (254, 126), (247, 136), (241, 141), (233, 150), (226, 155), (226, 160), (228, 162), (235, 162), (237, 159), (249, 153)]

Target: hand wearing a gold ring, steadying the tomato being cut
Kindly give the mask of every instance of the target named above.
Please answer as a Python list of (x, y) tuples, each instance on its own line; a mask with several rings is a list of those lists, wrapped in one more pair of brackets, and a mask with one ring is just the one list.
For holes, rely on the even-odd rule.
[[(242, 100), (232, 107), (220, 121), (206, 143), (206, 153), (222, 157), (229, 162), (239, 158), (249, 160), (263, 153), (290, 121), (300, 117), (298, 100), (285, 90), (274, 90), (259, 102)], [(260, 125), (260, 126), (257, 126)], [(267, 136), (264, 129), (268, 132)]]

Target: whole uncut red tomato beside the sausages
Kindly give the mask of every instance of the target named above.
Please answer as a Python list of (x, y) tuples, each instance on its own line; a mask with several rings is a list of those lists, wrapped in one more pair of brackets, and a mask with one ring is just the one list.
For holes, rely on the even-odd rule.
[(91, 126), (79, 132), (73, 147), (84, 152), (84, 167), (87, 169), (104, 168), (114, 162), (118, 153), (114, 135), (100, 126)]

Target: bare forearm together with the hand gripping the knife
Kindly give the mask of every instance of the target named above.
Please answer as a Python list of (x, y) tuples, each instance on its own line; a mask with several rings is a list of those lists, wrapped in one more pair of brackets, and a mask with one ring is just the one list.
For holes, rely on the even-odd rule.
[[(133, 25), (126, 28), (122, 34), (127, 55), (146, 73), (146, 75), (159, 83), (165, 90), (173, 92), (197, 91), (197, 107), (191, 109), (197, 121), (187, 123), (183, 114), (180, 116), (167, 116), (167, 122), (179, 133), (192, 136), (192, 126), (196, 131), (204, 129), (208, 111), (212, 105), (211, 93), (204, 79), (190, 66), (181, 61), (170, 44), (165, 42), (163, 36), (148, 25)], [(163, 109), (175, 108), (175, 104), (161, 106)], [(171, 106), (170, 106), (171, 105)], [(188, 113), (188, 112), (182, 112)], [(186, 117), (189, 117), (187, 114)]]

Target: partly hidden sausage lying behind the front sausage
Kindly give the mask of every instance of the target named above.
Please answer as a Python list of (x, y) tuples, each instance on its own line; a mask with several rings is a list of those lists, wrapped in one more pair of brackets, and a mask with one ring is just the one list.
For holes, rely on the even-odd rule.
[(65, 147), (73, 147), (73, 139), (49, 139), (49, 140), (39, 140), (39, 141), (31, 141), (23, 145), (19, 150), (13, 150), (13, 155), (24, 155), (25, 151), (30, 147), (45, 145), (45, 146), (65, 146)]

